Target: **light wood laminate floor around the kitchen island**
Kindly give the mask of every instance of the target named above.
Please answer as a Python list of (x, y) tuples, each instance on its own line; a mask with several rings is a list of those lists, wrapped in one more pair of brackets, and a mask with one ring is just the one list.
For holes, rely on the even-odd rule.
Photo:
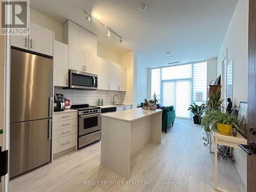
[[(55, 159), (10, 181), (10, 191), (215, 191), (214, 154), (203, 145), (201, 127), (176, 119), (162, 133), (162, 144), (148, 143), (131, 159), (130, 182), (100, 164), (100, 143)], [(228, 191), (246, 191), (236, 167), (219, 160), (219, 186)], [(78, 181), (100, 184), (77, 184)], [(119, 181), (102, 184), (101, 181)], [(144, 181), (152, 184), (144, 184)], [(157, 185), (156, 182), (169, 183)], [(172, 181), (178, 185), (172, 185)], [(124, 182), (122, 184), (121, 182)]]

